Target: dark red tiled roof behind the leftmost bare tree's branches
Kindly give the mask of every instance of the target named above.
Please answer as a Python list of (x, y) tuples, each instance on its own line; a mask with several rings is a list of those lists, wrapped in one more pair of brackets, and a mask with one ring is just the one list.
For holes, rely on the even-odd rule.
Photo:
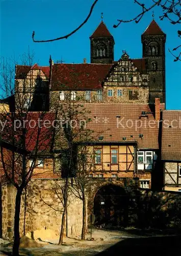
[[(14, 117), (15, 120), (19, 120), (14, 122), (17, 124), (17, 128), (15, 129), (15, 145), (21, 150), (22, 148), (22, 141), (21, 141), (21, 134), (22, 129), (18, 127), (19, 124), (22, 123), (22, 117), (18, 118), (18, 114)], [(51, 143), (53, 142), (53, 134), (54, 129), (51, 126), (53, 120), (55, 119), (55, 113), (48, 112), (48, 113), (41, 113), (41, 112), (29, 112), (27, 117), (25, 117), (24, 123), (26, 125), (26, 134), (25, 134), (25, 143), (26, 143), (26, 150), (28, 152), (35, 152), (36, 148), (39, 154), (49, 153), (51, 150)], [(11, 118), (11, 113), (8, 115), (1, 115), (1, 120), (5, 123), (5, 127), (3, 130), (2, 138), (12, 144), (12, 131), (14, 131), (14, 124), (12, 124), (13, 118)], [(50, 121), (50, 125), (47, 126), (43, 125), (45, 120)]]

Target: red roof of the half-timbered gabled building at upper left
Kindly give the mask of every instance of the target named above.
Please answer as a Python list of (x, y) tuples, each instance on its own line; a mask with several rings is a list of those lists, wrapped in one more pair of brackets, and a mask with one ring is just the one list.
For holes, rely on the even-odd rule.
[(41, 67), (38, 66), (37, 63), (35, 63), (32, 67), (31, 66), (23, 66), (23, 65), (17, 65), (16, 66), (16, 78), (25, 78), (30, 70), (41, 70), (46, 78), (49, 77), (49, 67)]

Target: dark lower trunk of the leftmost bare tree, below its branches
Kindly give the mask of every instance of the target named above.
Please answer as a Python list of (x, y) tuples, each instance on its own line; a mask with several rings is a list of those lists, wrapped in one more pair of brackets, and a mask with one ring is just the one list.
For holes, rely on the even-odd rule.
[(16, 202), (15, 202), (15, 215), (14, 215), (14, 243), (13, 243), (13, 256), (19, 255), (19, 217), (21, 205), (22, 190), (17, 189)]

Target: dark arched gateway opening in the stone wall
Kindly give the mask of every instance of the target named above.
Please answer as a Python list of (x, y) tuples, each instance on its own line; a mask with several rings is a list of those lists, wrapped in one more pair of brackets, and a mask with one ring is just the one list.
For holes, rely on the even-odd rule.
[(126, 226), (128, 220), (128, 197), (123, 187), (105, 185), (94, 197), (95, 225)]

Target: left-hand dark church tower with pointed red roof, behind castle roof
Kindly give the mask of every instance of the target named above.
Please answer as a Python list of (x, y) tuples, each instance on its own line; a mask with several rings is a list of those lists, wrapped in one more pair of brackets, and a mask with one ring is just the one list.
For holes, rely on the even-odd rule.
[(101, 21), (90, 36), (91, 63), (109, 64), (114, 61), (114, 38)]

